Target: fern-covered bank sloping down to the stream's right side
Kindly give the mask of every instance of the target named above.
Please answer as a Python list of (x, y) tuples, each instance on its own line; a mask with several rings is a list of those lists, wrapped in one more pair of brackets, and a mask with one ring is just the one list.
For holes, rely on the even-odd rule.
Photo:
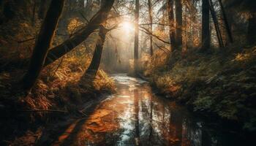
[(167, 98), (203, 116), (215, 115), (256, 131), (256, 47), (225, 49), (225, 53), (192, 51), (167, 59), (167, 65), (148, 66), (144, 75)]

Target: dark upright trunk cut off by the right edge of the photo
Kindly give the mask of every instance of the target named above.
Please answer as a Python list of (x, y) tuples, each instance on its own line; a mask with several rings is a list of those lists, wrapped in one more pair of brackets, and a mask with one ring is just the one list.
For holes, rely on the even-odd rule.
[(249, 45), (256, 44), (256, 13), (253, 12), (251, 17), (248, 20), (248, 32), (247, 32), (247, 39)]

